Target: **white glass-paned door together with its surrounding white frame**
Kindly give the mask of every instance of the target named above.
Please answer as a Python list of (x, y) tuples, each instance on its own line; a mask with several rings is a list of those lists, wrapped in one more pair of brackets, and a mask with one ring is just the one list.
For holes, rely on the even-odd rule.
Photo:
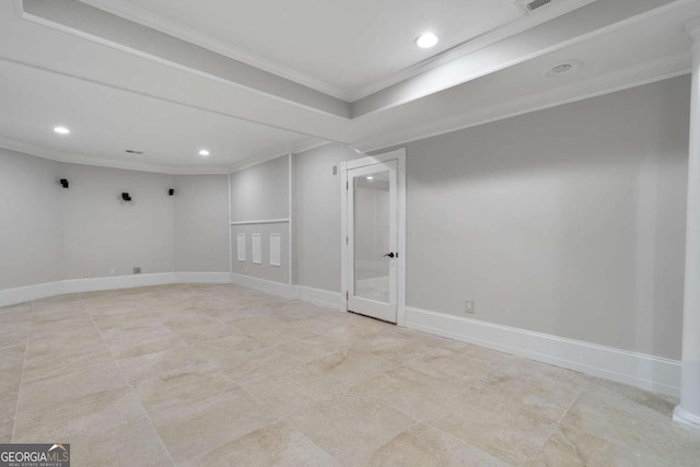
[(348, 161), (340, 171), (345, 311), (404, 325), (406, 150)]

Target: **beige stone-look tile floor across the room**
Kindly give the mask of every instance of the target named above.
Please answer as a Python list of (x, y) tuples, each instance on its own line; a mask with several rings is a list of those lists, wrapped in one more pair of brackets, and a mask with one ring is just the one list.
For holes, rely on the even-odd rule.
[(700, 465), (668, 397), (234, 285), (0, 323), (0, 442), (75, 467)]

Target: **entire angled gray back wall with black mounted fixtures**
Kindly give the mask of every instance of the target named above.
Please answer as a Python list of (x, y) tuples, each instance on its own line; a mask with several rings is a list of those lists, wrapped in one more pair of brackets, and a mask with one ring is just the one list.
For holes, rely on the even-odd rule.
[(143, 273), (229, 271), (228, 209), (226, 175), (174, 177), (0, 148), (0, 290), (130, 275), (136, 266)]

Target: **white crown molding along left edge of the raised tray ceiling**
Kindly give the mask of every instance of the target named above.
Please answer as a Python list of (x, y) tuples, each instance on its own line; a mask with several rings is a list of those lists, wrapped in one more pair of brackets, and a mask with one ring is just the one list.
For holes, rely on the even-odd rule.
[(267, 71), (269, 73), (288, 79), (290, 81), (294, 81), (295, 83), (310, 87), (314, 91), (328, 94), (330, 96), (334, 96), (342, 101), (348, 101), (349, 98), (349, 93), (338, 86), (335, 86), (323, 80), (310, 77), (307, 74), (301, 73), (291, 68), (281, 66), (273, 61), (255, 56), (253, 54), (248, 54), (243, 50), (236, 49), (206, 34), (201, 34), (192, 30), (178, 26), (175, 23), (164, 20), (163, 17), (156, 14), (150, 13), (141, 8), (126, 4), (119, 0), (79, 0), (79, 1), (81, 1), (82, 3), (89, 4), (91, 7), (97, 8), (100, 10), (106, 11), (107, 13), (112, 13), (117, 16), (124, 17), (125, 20), (129, 20), (135, 23), (141, 24), (142, 26), (151, 27), (161, 33), (171, 35), (173, 37), (177, 37), (178, 39), (195, 44), (199, 47), (206, 48), (217, 54), (221, 54), (233, 60), (237, 60), (243, 63), (249, 65), (250, 67), (258, 68), (262, 71)]

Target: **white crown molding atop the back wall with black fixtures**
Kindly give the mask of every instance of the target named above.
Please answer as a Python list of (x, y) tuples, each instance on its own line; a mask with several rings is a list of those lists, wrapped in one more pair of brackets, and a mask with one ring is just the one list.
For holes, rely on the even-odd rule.
[(93, 157), (84, 154), (69, 154), (62, 151), (40, 148), (3, 137), (0, 137), (0, 148), (67, 164), (92, 165), (96, 167), (121, 168), (126, 171), (152, 172), (165, 175), (220, 175), (229, 173), (229, 167), (176, 167), (144, 164), (132, 161), (114, 161), (110, 159)]

